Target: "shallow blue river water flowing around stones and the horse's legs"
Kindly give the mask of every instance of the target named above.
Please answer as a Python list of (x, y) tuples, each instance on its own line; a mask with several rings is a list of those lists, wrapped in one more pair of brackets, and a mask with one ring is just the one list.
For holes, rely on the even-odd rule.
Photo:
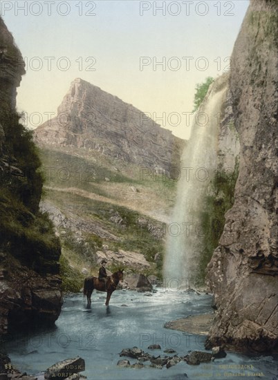
[[(123, 348), (133, 346), (162, 357), (166, 348), (173, 348), (180, 356), (189, 350), (205, 350), (204, 336), (168, 330), (163, 326), (173, 319), (210, 312), (211, 301), (211, 296), (194, 292), (118, 290), (113, 293), (109, 307), (104, 305), (104, 293), (93, 293), (91, 309), (87, 309), (83, 296), (74, 294), (65, 298), (55, 327), (17, 336), (6, 343), (6, 350), (12, 363), (30, 374), (38, 374), (57, 361), (79, 355), (85, 360), (86, 371), (82, 373), (88, 380), (234, 379), (230, 372), (241, 373), (236, 376), (240, 379), (278, 380), (277, 358), (246, 357), (234, 353), (212, 363), (187, 365), (182, 361), (163, 370), (117, 366), (120, 359), (136, 362), (136, 359), (119, 356)], [(149, 345), (156, 343), (160, 344), (161, 350), (148, 350)], [(245, 369), (228, 369), (220, 365), (245, 365)], [(250, 365), (254, 368), (250, 369)], [(264, 376), (256, 376), (255, 373), (259, 372)]]

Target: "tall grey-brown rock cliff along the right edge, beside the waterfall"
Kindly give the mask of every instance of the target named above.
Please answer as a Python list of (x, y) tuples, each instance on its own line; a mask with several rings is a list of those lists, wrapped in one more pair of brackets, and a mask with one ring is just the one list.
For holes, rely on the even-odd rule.
[(277, 26), (277, 1), (251, 1), (232, 53), (239, 178), (207, 267), (217, 307), (207, 347), (277, 346)]

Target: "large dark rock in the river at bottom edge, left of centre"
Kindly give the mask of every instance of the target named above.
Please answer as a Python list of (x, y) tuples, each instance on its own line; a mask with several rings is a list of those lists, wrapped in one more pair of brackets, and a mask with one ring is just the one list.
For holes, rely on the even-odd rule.
[(66, 359), (59, 361), (54, 365), (49, 367), (45, 374), (45, 379), (59, 380), (66, 379), (77, 372), (82, 372), (85, 370), (85, 361), (80, 357), (75, 357), (73, 359)]

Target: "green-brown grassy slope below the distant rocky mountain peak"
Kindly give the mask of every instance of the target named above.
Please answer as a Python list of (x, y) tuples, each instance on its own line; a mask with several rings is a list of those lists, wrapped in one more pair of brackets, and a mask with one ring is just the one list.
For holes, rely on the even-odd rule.
[[(45, 177), (44, 200), (50, 201), (68, 220), (75, 220), (75, 226), (80, 221), (86, 225), (96, 223), (120, 238), (120, 241), (100, 238), (84, 225), (60, 230), (64, 289), (78, 291), (82, 287), (82, 267), (89, 268), (92, 274), (97, 273), (94, 253), (102, 244), (115, 251), (124, 249), (144, 254), (153, 263), (151, 273), (160, 275), (162, 263), (156, 265), (154, 256), (158, 252), (163, 254), (163, 239), (152, 236), (147, 228), (138, 225), (137, 220), (147, 215), (148, 220), (161, 227), (174, 205), (176, 182), (161, 175), (142, 178), (142, 168), (118, 160), (111, 162), (98, 152), (89, 154), (84, 156), (82, 150), (40, 149)], [(149, 174), (146, 170), (144, 173)], [(122, 229), (109, 220), (116, 211), (126, 228)]]

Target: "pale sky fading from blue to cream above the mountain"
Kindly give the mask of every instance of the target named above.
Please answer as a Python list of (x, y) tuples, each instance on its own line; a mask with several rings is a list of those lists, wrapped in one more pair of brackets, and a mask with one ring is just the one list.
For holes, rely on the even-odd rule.
[(26, 60), (18, 109), (35, 128), (80, 77), (188, 138), (185, 113), (195, 86), (229, 69), (248, 4), (1, 0), (1, 16)]

